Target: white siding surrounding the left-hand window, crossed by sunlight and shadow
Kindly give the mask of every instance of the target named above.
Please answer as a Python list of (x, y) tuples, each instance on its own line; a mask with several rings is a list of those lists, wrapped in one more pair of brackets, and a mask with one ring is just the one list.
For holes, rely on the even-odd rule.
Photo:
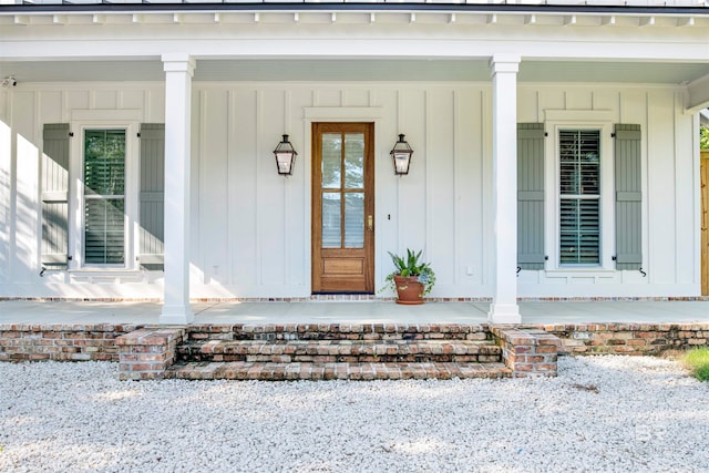
[[(79, 111), (110, 114), (114, 110), (140, 110), (141, 122), (162, 122), (163, 96), (161, 84), (138, 83), (23, 84), (11, 92), (0, 92), (0, 297), (162, 296), (158, 285), (147, 284), (154, 277), (138, 271), (74, 271), (71, 277), (66, 273), (48, 273), (40, 277), (38, 251), (43, 125), (70, 123), (72, 113)], [(76, 140), (81, 140), (79, 135)], [(10, 176), (14, 176), (14, 189)]]

